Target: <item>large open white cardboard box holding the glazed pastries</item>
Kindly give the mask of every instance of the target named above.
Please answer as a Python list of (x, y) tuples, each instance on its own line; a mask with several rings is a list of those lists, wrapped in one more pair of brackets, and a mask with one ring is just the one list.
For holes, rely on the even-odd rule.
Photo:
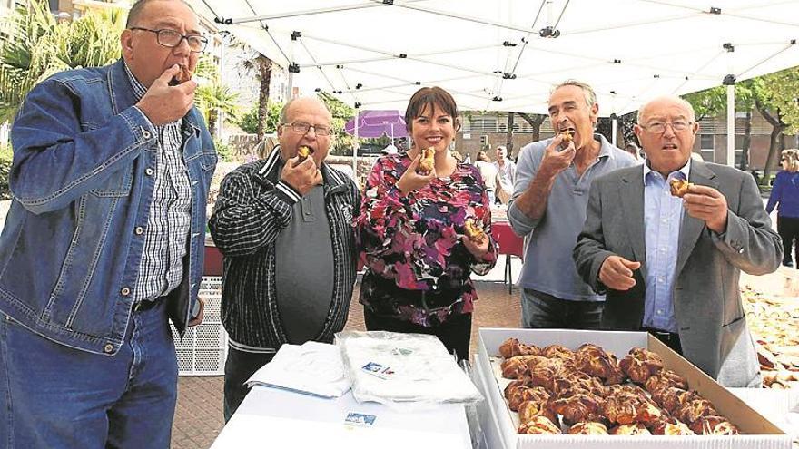
[[(560, 329), (510, 329), (481, 328), (479, 330), (478, 353), (475, 364), (478, 368), (478, 387), (486, 397), (483, 407), (482, 421), (487, 440), (494, 434), (491, 449), (546, 449), (557, 448), (703, 448), (703, 449), (790, 449), (791, 437), (784, 434), (776, 425), (770, 423), (741, 399), (719, 386), (714, 379), (706, 376), (683, 357), (666, 347), (655, 337), (644, 332), (600, 332)], [(737, 425), (742, 435), (715, 436), (588, 436), (588, 435), (519, 435), (517, 434), (518, 415), (508, 409), (503, 396), (503, 389), (508, 379), (503, 379), (499, 370), (501, 357), (499, 345), (507, 338), (516, 337), (524, 343), (539, 347), (547, 345), (563, 345), (576, 349), (583, 343), (594, 343), (612, 352), (619, 359), (624, 357), (632, 347), (646, 347), (663, 357), (664, 366), (684, 376), (688, 385), (708, 400), (718, 412), (725, 415)], [(490, 415), (490, 416), (488, 416)], [(489, 429), (496, 425), (497, 429)], [(500, 445), (501, 444), (501, 445)]]

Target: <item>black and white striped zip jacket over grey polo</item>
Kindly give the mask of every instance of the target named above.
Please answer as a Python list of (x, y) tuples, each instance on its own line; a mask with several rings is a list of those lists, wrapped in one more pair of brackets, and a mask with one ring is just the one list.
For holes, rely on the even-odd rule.
[[(291, 220), (300, 195), (279, 180), (279, 148), (261, 161), (244, 164), (225, 176), (209, 226), (224, 257), (222, 324), (231, 346), (249, 352), (272, 352), (286, 343), (275, 291), (275, 241)], [(333, 249), (333, 298), (316, 339), (332, 341), (347, 320), (358, 251), (352, 227), (360, 206), (355, 182), (322, 164), (325, 212)], [(313, 273), (297, 273), (313, 277)]]

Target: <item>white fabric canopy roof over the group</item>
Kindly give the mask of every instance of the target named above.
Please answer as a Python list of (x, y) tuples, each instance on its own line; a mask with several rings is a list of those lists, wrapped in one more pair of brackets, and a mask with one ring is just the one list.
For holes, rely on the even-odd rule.
[(439, 85), (461, 110), (546, 113), (552, 86), (574, 78), (607, 116), (799, 65), (799, 1), (190, 1), (299, 70), (295, 86), (363, 109), (404, 111)]

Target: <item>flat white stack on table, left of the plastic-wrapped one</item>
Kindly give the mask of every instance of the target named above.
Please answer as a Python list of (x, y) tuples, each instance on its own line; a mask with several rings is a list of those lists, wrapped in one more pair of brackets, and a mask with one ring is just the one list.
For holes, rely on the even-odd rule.
[(339, 348), (315, 341), (281, 346), (271, 362), (261, 366), (246, 384), (322, 397), (340, 397), (350, 390)]

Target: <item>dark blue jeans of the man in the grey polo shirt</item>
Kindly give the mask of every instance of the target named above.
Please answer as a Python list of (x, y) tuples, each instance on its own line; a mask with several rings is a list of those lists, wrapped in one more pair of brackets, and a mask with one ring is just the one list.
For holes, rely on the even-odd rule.
[(524, 288), (521, 292), (522, 326), (533, 329), (598, 329), (602, 301), (569, 301)]

